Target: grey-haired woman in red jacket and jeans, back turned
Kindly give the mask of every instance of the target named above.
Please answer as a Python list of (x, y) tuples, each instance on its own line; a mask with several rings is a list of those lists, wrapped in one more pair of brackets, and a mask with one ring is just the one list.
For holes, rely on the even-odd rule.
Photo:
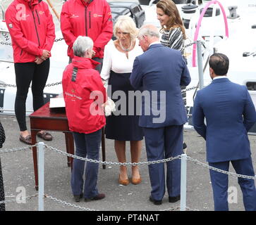
[[(63, 72), (62, 86), (68, 126), (75, 140), (75, 155), (99, 160), (102, 127), (106, 123), (102, 108), (106, 102), (106, 89), (95, 70), (99, 63), (92, 60), (92, 47), (90, 37), (79, 36), (75, 40), (75, 57)], [(85, 181), (84, 169), (84, 160), (73, 160), (71, 189), (75, 201), (79, 202), (80, 198), (101, 200), (105, 195), (97, 190), (99, 164), (87, 162)]]

